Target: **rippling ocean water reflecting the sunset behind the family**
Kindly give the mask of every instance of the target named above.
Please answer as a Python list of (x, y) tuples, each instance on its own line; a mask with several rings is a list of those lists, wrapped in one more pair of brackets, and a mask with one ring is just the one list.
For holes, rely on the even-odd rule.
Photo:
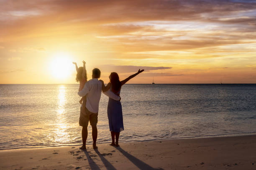
[[(81, 145), (79, 84), (0, 85), (0, 150)], [(256, 84), (127, 84), (122, 142), (256, 133)], [(110, 143), (102, 94), (97, 143)], [(92, 143), (88, 126), (87, 143)]]

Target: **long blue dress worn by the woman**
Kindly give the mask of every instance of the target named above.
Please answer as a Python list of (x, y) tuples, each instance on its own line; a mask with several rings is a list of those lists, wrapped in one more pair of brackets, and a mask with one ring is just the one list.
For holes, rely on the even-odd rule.
[[(118, 92), (118, 95), (120, 95), (120, 91)], [(108, 98), (108, 124), (111, 132), (120, 132), (124, 130), (121, 102), (111, 98)]]

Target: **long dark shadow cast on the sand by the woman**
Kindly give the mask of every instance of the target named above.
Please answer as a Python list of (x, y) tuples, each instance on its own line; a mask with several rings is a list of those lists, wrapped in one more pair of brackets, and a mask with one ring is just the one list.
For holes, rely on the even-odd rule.
[(120, 147), (116, 147), (116, 149), (119, 150), (120, 153), (122, 153), (126, 158), (128, 158), (128, 160), (130, 160), (136, 167), (138, 167), (141, 170), (163, 170), (162, 168), (159, 168), (159, 169), (152, 168), (150, 165), (144, 163), (143, 161), (129, 154), (128, 152), (126, 152)]

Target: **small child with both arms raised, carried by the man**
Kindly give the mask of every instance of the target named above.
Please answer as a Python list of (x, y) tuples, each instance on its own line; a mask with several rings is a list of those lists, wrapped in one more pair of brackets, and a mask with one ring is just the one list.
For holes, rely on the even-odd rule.
[[(81, 91), (84, 88), (84, 84), (87, 82), (87, 73), (86, 73), (86, 69), (85, 69), (85, 61), (83, 60), (83, 67), (77, 67), (77, 63), (73, 62), (73, 64), (76, 66), (76, 70), (77, 70), (77, 77), (76, 80), (77, 82), (80, 83), (79, 85), (79, 91)], [(86, 97), (86, 96), (84, 96)], [(83, 97), (81, 98), (81, 100), (79, 101), (79, 103), (82, 105), (82, 101), (83, 101)]]

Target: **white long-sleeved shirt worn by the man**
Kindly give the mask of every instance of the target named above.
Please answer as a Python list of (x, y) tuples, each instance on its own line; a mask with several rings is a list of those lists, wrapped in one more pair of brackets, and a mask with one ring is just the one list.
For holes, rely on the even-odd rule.
[[(84, 88), (78, 92), (78, 95), (81, 97), (87, 95), (85, 107), (90, 112), (97, 113), (99, 111), (101, 90), (102, 82), (99, 81), (97, 78), (93, 78), (87, 81), (84, 85)], [(104, 94), (114, 100), (120, 100), (120, 96), (115, 95), (110, 90), (104, 92)]]

